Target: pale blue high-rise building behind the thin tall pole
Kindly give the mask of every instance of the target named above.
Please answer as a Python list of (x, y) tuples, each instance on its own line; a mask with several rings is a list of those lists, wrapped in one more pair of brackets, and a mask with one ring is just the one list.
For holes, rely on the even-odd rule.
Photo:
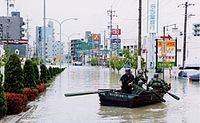
[[(45, 59), (46, 62), (51, 62), (55, 58), (54, 54), (54, 27), (53, 22), (49, 21), (46, 27), (46, 43), (45, 43)], [(44, 57), (44, 27), (36, 27), (36, 56), (39, 58)]]

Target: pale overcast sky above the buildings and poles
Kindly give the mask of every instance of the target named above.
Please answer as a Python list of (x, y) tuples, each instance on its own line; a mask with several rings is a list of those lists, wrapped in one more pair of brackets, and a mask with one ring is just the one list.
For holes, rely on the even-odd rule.
[[(138, 0), (46, 0), (47, 18), (54, 18), (59, 21), (77, 17), (78, 21), (67, 21), (63, 24), (62, 33), (70, 35), (85, 31), (102, 33), (107, 30), (109, 17), (107, 10), (116, 11), (117, 17), (113, 18), (114, 26), (119, 25), (122, 29), (122, 39), (137, 40), (137, 19), (138, 19)], [(196, 16), (188, 19), (188, 30), (191, 24), (200, 22), (200, 1), (188, 0), (189, 3), (196, 4), (188, 7), (188, 14)], [(178, 7), (185, 3), (185, 0), (160, 0), (159, 1), (159, 33), (162, 34), (162, 27), (168, 24), (177, 24), (180, 31), (183, 31), (184, 8)], [(35, 27), (43, 25), (43, 0), (15, 0), (15, 10), (21, 12), (25, 19), (30, 21), (31, 40), (35, 40)], [(147, 21), (147, 0), (143, 0), (142, 12), (143, 27), (142, 36), (146, 34)], [(0, 15), (6, 15), (6, 0), (0, 0)], [(58, 24), (55, 25), (55, 33), (58, 33)], [(189, 31), (188, 33), (191, 33)], [(58, 36), (56, 36), (58, 37)], [(64, 37), (63, 37), (64, 38)], [(64, 39), (63, 39), (64, 40)], [(125, 40), (125, 41), (126, 41)]]

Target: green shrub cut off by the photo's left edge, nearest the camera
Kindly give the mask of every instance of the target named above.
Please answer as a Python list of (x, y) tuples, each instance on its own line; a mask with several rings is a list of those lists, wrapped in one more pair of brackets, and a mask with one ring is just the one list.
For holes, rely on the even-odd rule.
[(0, 73), (0, 119), (3, 116), (5, 116), (7, 112), (7, 102), (4, 95), (2, 80), (3, 80), (3, 75)]

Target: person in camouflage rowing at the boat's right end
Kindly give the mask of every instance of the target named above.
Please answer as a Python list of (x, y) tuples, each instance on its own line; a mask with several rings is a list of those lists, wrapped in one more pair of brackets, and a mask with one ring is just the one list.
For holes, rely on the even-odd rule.
[(155, 73), (147, 84), (147, 90), (149, 90), (150, 87), (158, 93), (166, 93), (171, 89), (171, 84), (167, 84), (163, 79), (159, 78), (158, 73)]

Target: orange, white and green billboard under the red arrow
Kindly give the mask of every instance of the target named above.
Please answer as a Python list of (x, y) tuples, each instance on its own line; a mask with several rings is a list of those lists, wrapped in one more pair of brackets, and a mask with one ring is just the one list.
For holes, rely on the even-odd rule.
[[(170, 68), (177, 64), (177, 41), (172, 39), (158, 39), (156, 42), (157, 68)], [(164, 46), (165, 44), (165, 46)]]

